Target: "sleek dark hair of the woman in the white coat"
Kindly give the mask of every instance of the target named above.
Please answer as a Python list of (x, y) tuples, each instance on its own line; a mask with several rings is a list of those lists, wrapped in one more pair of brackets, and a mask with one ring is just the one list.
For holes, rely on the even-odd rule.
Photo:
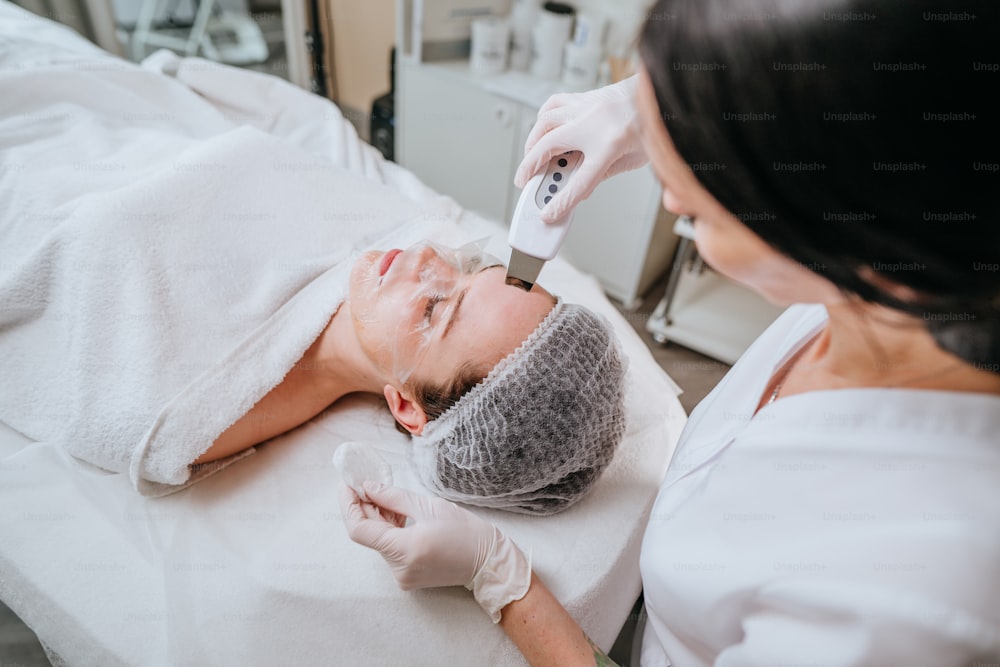
[(678, 152), (737, 218), (1000, 372), (996, 14), (984, 1), (659, 0), (639, 49)]

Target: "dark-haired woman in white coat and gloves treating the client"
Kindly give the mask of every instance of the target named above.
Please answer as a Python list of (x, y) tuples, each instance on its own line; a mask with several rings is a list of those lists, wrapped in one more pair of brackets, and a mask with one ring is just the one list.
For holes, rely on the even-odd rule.
[[(681, 436), (643, 541), (642, 665), (1000, 660), (994, 17), (661, 0), (636, 77), (539, 113), (519, 185), (585, 155), (552, 217), (648, 160), (704, 260), (788, 306)], [(381, 513), (345, 491), (350, 535), (403, 588), (465, 585), (533, 665), (608, 664), (493, 525), (367, 494)]]

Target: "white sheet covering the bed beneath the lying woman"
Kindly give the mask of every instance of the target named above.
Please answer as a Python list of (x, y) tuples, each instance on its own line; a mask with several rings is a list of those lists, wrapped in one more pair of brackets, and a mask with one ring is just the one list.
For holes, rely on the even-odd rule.
[[(45, 66), (39, 85), (63, 66), (88, 64), (88, 75), (118, 68), (5, 2), (0, 40), (7, 71)], [(274, 86), (237, 70), (213, 68), (212, 76), (233, 81), (225, 95), (203, 109), (190, 99), (171, 107), (166, 97), (165, 113), (209, 134), (258, 124), (407, 196), (436, 196), (381, 162), (329, 103), (285, 87), (246, 97), (262, 80)], [(320, 117), (308, 112), (317, 103), (326, 105)], [(225, 123), (211, 116), (213, 106)], [(501, 254), (502, 229), (481, 224)], [(686, 417), (676, 385), (596, 281), (562, 261), (541, 278), (614, 325), (630, 360), (630, 426), (606, 474), (570, 510), (546, 518), (476, 511), (530, 548), (535, 570), (609, 648), (639, 593), (643, 525)], [(375, 398), (338, 402), (256, 455), (163, 498), (142, 497), (127, 476), (0, 423), (0, 598), (73, 665), (524, 664), (467, 591), (400, 591), (378, 554), (347, 538), (331, 455), (348, 440), (375, 443), (397, 482), (419, 487), (406, 466), (407, 438)]]

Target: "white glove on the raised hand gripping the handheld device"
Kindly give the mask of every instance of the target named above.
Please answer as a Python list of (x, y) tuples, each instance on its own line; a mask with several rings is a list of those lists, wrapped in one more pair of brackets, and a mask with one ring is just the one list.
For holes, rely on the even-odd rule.
[(556, 155), (583, 153), (569, 183), (542, 208), (542, 220), (561, 219), (604, 179), (648, 162), (635, 113), (638, 80), (636, 75), (585, 93), (553, 95), (539, 109), (514, 185), (523, 188)]

